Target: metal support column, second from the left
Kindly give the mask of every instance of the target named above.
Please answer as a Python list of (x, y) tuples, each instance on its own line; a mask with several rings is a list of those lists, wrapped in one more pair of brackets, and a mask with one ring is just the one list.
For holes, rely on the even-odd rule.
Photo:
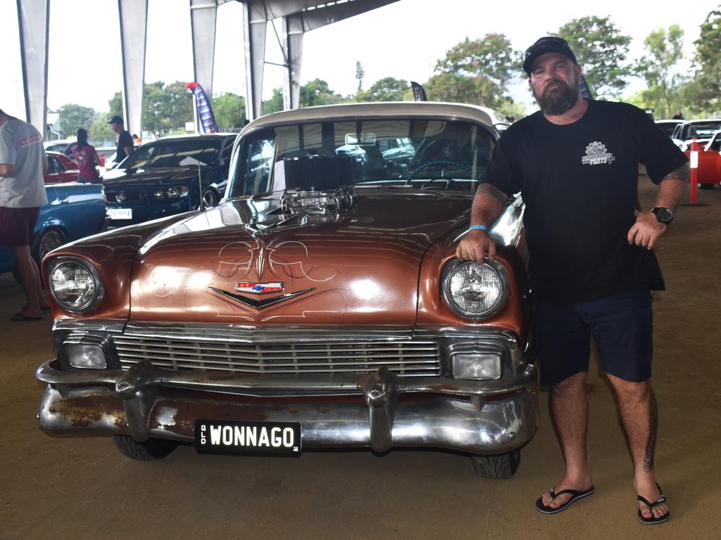
[(142, 136), (148, 0), (118, 0), (118, 13), (125, 129)]

